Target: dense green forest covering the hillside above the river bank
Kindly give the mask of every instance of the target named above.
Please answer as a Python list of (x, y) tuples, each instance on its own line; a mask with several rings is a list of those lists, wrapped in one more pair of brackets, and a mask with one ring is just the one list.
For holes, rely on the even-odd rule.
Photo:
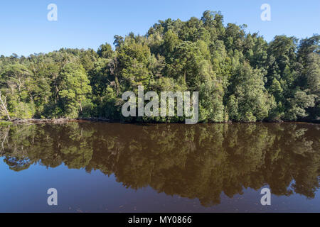
[[(0, 117), (124, 118), (122, 94), (199, 92), (199, 121), (313, 121), (320, 116), (320, 35), (267, 43), (220, 12), (166, 19), (146, 35), (114, 36), (97, 51), (60, 49), (0, 57)], [(299, 31), (297, 31), (299, 32)]]

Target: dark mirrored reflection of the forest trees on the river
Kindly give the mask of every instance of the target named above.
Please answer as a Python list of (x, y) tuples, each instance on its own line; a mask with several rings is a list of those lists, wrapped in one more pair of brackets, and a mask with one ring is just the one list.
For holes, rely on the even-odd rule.
[(272, 194), (314, 198), (319, 135), (319, 125), (306, 123), (17, 125), (0, 128), (0, 155), (14, 171), (64, 163), (212, 206), (222, 192), (266, 184)]

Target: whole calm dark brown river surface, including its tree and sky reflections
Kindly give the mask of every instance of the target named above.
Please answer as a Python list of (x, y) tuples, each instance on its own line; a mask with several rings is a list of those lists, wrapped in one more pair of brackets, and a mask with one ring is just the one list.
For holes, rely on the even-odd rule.
[[(0, 127), (0, 211), (320, 212), (320, 125)], [(262, 206), (262, 188), (271, 205)], [(47, 190), (58, 190), (48, 206)]]

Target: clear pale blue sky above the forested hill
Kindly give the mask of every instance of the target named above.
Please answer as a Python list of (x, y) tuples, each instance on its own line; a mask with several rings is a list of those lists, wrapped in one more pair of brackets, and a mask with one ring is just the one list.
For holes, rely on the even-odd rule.
[[(48, 21), (48, 4), (58, 6), (58, 21)], [(271, 6), (271, 21), (261, 21), (260, 6)], [(274, 35), (306, 38), (320, 33), (319, 0), (38, 0), (0, 2), (0, 55), (30, 55), (60, 48), (93, 48), (113, 43), (130, 31), (145, 35), (158, 20), (221, 11), (224, 22), (247, 24), (270, 41)]]

